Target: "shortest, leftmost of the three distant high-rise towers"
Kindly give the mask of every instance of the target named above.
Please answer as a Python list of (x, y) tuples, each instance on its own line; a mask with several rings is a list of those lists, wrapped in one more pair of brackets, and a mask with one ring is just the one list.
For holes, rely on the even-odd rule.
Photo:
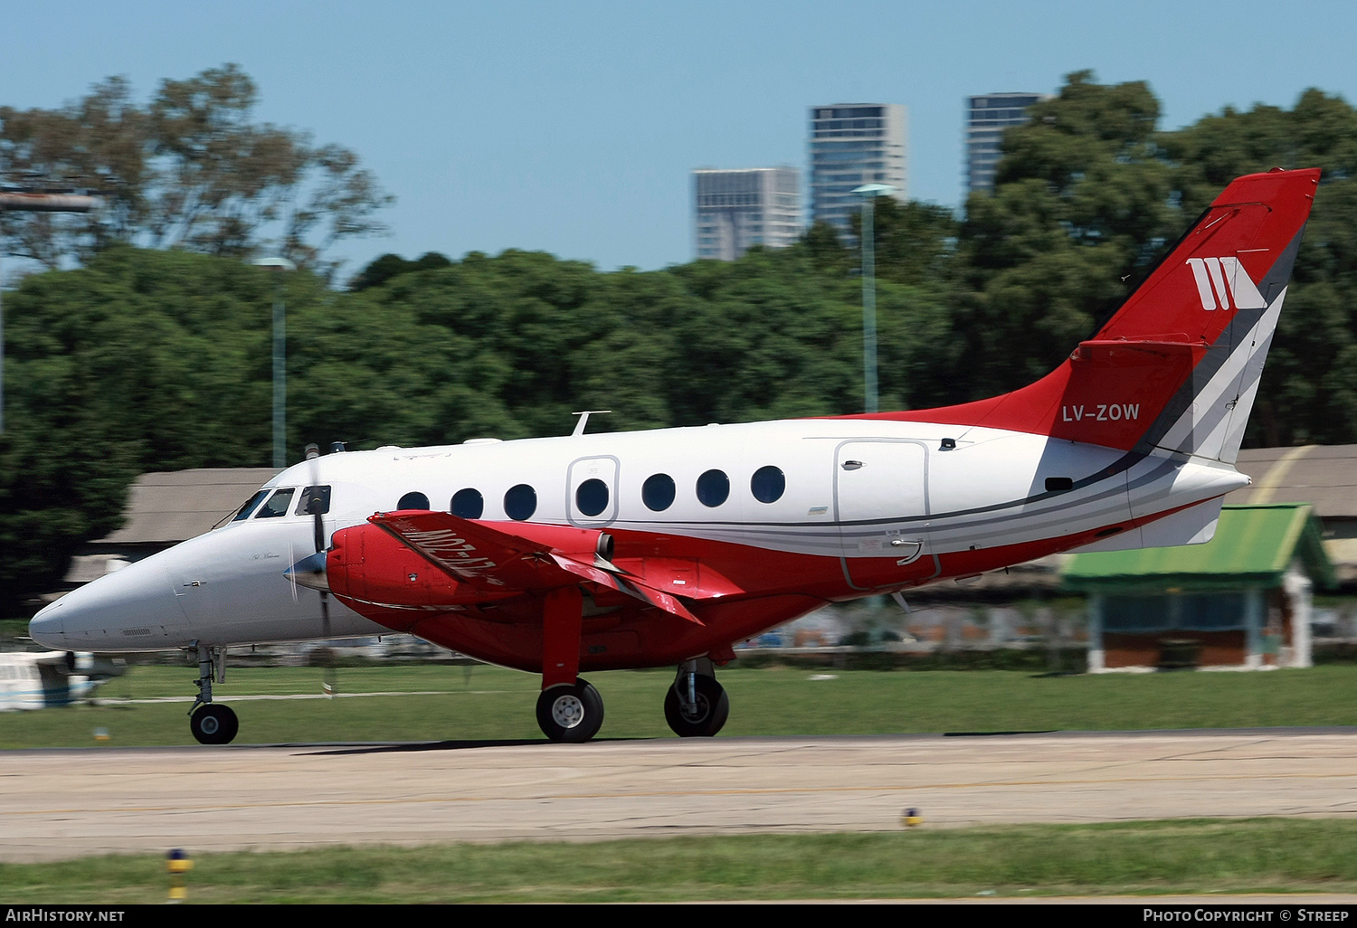
[(799, 180), (792, 167), (693, 171), (697, 256), (734, 260), (749, 246), (790, 246), (801, 235)]

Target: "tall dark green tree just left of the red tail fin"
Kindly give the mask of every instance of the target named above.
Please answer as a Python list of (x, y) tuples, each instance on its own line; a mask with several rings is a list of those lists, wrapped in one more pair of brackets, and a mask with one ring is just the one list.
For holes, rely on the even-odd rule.
[(1077, 72), (1029, 114), (1004, 137), (993, 194), (966, 204), (954, 307), (972, 376), (957, 399), (1053, 369), (1178, 233), (1148, 85)]

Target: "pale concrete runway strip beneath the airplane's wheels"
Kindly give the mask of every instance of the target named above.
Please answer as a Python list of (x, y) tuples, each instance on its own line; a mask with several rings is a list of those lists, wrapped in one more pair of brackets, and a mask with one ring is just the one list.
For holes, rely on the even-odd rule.
[(0, 753), (0, 860), (1357, 813), (1357, 729)]

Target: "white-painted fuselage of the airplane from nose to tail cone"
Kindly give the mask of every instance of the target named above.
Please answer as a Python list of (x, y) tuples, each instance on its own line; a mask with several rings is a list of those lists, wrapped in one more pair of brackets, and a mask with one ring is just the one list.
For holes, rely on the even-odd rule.
[[(943, 449), (944, 438), (954, 446)], [(760, 502), (750, 486), (765, 467), (784, 476), (772, 502)], [(727, 476), (729, 495), (708, 506), (696, 486), (714, 469)], [(674, 486), (662, 511), (642, 494), (657, 473)], [(1068, 479), (1072, 487), (1052, 492), (1048, 479)], [(586, 480), (608, 491), (594, 516), (577, 505)], [(1018, 431), (795, 419), (337, 453), (297, 464), (266, 486), (331, 486), (326, 539), (396, 509), (408, 492), (448, 510), (453, 494), (472, 488), (483, 499), (479, 518), (508, 520), (505, 494), (528, 486), (536, 497), (533, 522), (843, 559), (841, 598), (851, 598), (868, 592), (852, 582), (858, 558), (898, 554), (901, 564), (940, 564), (939, 558), (959, 551), (1041, 541), (1060, 549), (1060, 539), (1217, 499), (1244, 483), (1216, 463), (1128, 457)], [(319, 594), (284, 575), (313, 551), (308, 516), (228, 522), (71, 593), (35, 617), (33, 635), (53, 647), (95, 651), (316, 639), (323, 636)], [(387, 631), (334, 597), (328, 608), (331, 636)]]

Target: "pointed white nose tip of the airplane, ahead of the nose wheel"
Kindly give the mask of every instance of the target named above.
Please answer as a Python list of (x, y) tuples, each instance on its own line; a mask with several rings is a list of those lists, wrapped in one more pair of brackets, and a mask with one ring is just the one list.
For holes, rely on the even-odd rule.
[(153, 650), (182, 627), (170, 577), (156, 558), (129, 564), (66, 593), (28, 623), (33, 640), (75, 651)]

